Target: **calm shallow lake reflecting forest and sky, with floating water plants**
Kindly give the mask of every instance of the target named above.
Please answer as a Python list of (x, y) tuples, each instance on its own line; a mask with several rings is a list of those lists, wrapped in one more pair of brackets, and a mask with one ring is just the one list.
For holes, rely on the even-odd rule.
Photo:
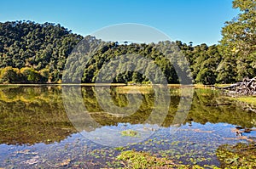
[(1, 86), (0, 168), (123, 167), (116, 157), (131, 149), (221, 166), (218, 147), (255, 140), (236, 136), (253, 120), (208, 87)]

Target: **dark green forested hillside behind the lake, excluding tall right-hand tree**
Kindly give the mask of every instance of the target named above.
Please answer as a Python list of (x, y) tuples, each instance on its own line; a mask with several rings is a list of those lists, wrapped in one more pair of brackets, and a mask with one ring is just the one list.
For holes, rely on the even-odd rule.
[[(102, 42), (90, 36), (80, 41), (81, 36), (61, 25), (49, 23), (6, 22), (0, 24), (0, 31), (0, 69), (10, 66), (20, 70), (16, 72), (20, 78), (7, 80), (7, 77), (0, 76), (1, 82), (6, 83), (60, 82), (63, 73), (65, 82), (96, 82), (102, 68), (108, 65), (108, 72), (116, 75), (108, 76), (104, 82), (179, 83), (183, 79), (178, 78), (177, 72), (189, 74), (190, 68), (195, 82), (214, 84), (221, 59), (217, 46), (201, 44), (192, 47), (191, 42), (188, 46), (178, 41), (119, 45), (118, 42)], [(175, 47), (181, 52), (177, 53)], [(73, 48), (74, 53), (70, 55)], [(92, 57), (85, 60), (81, 54), (92, 54)], [(134, 54), (137, 57), (132, 58)], [(190, 66), (181, 55), (188, 59)], [(147, 60), (154, 64), (148, 64)]]

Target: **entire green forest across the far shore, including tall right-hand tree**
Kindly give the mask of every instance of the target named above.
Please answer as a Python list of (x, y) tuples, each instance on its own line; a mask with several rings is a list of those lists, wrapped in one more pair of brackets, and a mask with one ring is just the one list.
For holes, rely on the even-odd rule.
[[(256, 76), (256, 3), (253, 0), (234, 0), (233, 8), (238, 8), (240, 14), (225, 23), (221, 41), (212, 46), (181, 41), (147, 44), (102, 42), (96, 37), (74, 34), (59, 24), (38, 24), (25, 20), (0, 23), (0, 83), (61, 83), (62, 76), (68, 82), (79, 80), (93, 83), (103, 65), (114, 57), (125, 54), (138, 54), (153, 60), (168, 83), (181, 81), (173, 66), (178, 62), (181, 70), (187, 72), (194, 83), (212, 85), (239, 82), (244, 77), (253, 78)], [(83, 39), (91, 42), (90, 45), (99, 42), (104, 45), (93, 54), (83, 69), (78, 70), (77, 67), (79, 64), (83, 65), (83, 60), (72, 60), (69, 55)], [(180, 64), (181, 60), (175, 54), (172, 54), (171, 59), (166, 59), (166, 54), (172, 53), (172, 49), (164, 53), (159, 48), (167, 48), (170, 44), (180, 48), (189, 65)], [(134, 61), (137, 60), (128, 60), (130, 64)], [(143, 62), (140, 64), (145, 67), (146, 74), (122, 71), (122, 64), (116, 64), (119, 64), (119, 74), (110, 82), (160, 82), (159, 75), (148, 77), (154, 68), (143, 65)], [(78, 71), (78, 75), (82, 76), (75, 78), (71, 72), (65, 72), (65, 66), (73, 70), (72, 73)], [(187, 67), (189, 70), (186, 70)], [(116, 67), (113, 66), (113, 69)]]

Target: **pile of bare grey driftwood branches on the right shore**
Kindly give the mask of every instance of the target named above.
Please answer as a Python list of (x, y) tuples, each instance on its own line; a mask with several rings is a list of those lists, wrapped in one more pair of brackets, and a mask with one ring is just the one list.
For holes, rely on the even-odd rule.
[(256, 77), (244, 78), (242, 82), (236, 82), (228, 87), (217, 87), (218, 89), (230, 90), (232, 93), (241, 95), (256, 95)]

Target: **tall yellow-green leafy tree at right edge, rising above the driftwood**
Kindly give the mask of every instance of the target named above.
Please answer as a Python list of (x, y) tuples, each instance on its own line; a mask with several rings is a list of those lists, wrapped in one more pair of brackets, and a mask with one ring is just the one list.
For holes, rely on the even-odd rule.
[[(236, 70), (236, 81), (240, 81), (244, 76), (256, 75), (256, 1), (234, 0), (233, 8), (238, 8), (240, 14), (226, 22), (222, 30), (221, 51), (224, 59), (220, 66), (228, 65), (225, 62), (230, 60), (235, 61), (232, 69)], [(230, 74), (220, 67), (218, 70), (219, 76)]]

